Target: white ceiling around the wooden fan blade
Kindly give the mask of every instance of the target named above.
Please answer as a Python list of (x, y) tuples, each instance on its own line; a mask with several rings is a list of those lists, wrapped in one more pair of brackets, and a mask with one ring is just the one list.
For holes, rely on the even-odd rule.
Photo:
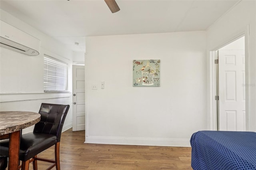
[(85, 51), (86, 36), (207, 30), (240, 0), (116, 2), (120, 11), (114, 14), (104, 0), (0, 0), (0, 8), (73, 51)]

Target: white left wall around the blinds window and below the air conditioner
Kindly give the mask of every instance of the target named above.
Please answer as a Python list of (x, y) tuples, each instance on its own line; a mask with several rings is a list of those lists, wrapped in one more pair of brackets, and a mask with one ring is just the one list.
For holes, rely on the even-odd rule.
[[(72, 94), (44, 93), (44, 54), (68, 63), (68, 89), (72, 91), (72, 51), (63, 44), (0, 10), (1, 20), (41, 40), (40, 54), (28, 56), (0, 47), (0, 111), (38, 112), (41, 103), (69, 104), (63, 130), (72, 127)], [(30, 132), (33, 127), (23, 130)]]

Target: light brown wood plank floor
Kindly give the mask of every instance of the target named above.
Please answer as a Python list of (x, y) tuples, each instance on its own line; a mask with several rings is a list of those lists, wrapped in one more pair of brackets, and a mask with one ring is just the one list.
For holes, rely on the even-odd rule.
[[(84, 136), (85, 131), (72, 129), (62, 133), (61, 170), (192, 170), (190, 147), (85, 144)], [(38, 157), (54, 159), (54, 147)], [(38, 170), (45, 170), (46, 165), (38, 161)]]

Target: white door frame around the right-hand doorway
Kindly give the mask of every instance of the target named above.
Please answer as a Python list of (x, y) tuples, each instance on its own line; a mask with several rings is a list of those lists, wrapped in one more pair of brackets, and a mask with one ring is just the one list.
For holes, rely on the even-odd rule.
[(249, 110), (249, 102), (248, 102), (248, 95), (249, 95), (249, 88), (246, 86), (249, 83), (249, 68), (248, 68), (248, 57), (249, 57), (249, 25), (246, 26), (245, 30), (237, 33), (236, 35), (228, 38), (227, 40), (224, 40), (222, 42), (222, 44), (218, 45), (217, 47), (215, 47), (214, 49), (210, 49), (210, 63), (209, 63), (209, 76), (210, 76), (210, 87), (209, 87), (209, 92), (210, 92), (210, 99), (209, 99), (209, 103), (210, 103), (210, 130), (218, 130), (218, 101), (216, 101), (214, 98), (215, 96), (218, 94), (218, 89), (216, 86), (216, 74), (217, 74), (217, 69), (216, 69), (216, 65), (214, 63), (214, 60), (217, 59), (218, 54), (217, 54), (217, 50), (224, 47), (225, 45), (228, 45), (231, 42), (234, 42), (236, 40), (238, 40), (239, 38), (244, 36), (244, 41), (245, 41), (245, 117), (246, 117), (246, 131), (249, 130), (250, 127), (250, 121), (249, 121), (249, 117), (250, 117), (250, 110)]

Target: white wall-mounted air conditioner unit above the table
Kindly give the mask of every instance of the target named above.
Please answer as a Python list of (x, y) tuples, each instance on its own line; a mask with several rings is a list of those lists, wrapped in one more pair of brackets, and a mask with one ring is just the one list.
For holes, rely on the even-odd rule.
[(41, 41), (0, 20), (0, 46), (24, 53), (39, 55)]

